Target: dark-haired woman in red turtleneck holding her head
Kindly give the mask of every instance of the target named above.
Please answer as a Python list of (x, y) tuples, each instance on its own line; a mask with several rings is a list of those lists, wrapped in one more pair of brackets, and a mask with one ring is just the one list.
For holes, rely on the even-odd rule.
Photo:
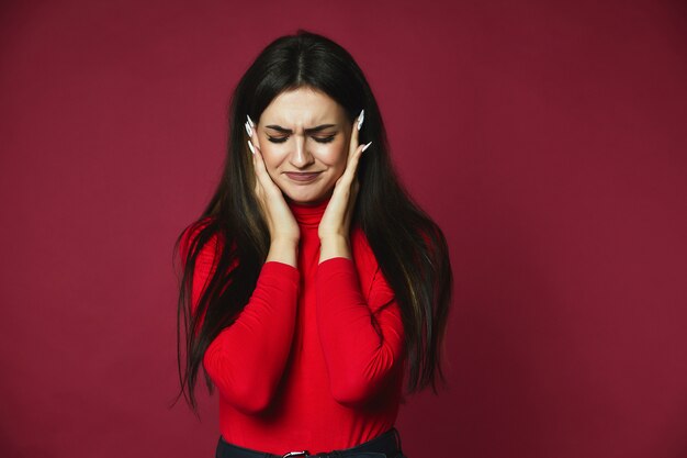
[(403, 457), (404, 375), (409, 392), (443, 380), (452, 273), (370, 86), (342, 47), (299, 31), (244, 75), (229, 129), (222, 181), (176, 246), (181, 392), (195, 410), (202, 364), (217, 457)]

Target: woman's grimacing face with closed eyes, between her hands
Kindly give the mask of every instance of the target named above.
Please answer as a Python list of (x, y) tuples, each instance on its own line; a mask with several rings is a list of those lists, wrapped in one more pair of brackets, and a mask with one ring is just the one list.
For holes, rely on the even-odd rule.
[(279, 94), (256, 124), (267, 171), (286, 198), (314, 204), (331, 196), (348, 159), (352, 122), (311, 88)]

